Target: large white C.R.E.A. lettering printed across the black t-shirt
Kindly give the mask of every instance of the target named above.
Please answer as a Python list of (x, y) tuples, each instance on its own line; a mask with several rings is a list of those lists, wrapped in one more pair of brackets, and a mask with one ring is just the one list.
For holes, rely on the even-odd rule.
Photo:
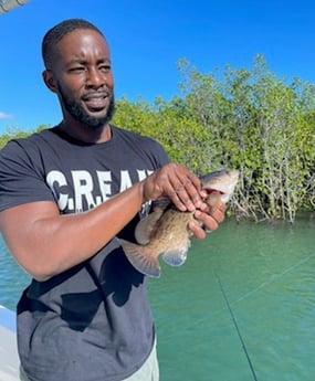
[[(72, 183), (67, 183), (66, 177), (59, 170), (52, 170), (46, 176), (46, 182), (57, 200), (60, 211), (70, 211), (80, 213), (84, 211), (84, 202), (88, 209), (99, 205), (113, 195), (113, 178), (112, 171), (96, 171), (96, 177), (86, 170), (72, 170)], [(148, 169), (136, 170), (137, 181), (144, 180), (151, 174)], [(120, 170), (119, 192), (133, 186), (132, 177), (128, 170)], [(95, 181), (97, 183), (95, 183)], [(134, 182), (135, 183), (135, 182)], [(73, 189), (73, 197), (70, 191)], [(99, 193), (96, 192), (99, 190)], [(143, 205), (141, 214), (146, 212), (148, 204)]]

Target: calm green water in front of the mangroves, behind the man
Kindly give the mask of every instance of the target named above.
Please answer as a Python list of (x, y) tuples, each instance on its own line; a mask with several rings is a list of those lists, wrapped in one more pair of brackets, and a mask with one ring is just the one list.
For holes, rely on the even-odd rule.
[[(314, 381), (314, 214), (225, 220), (185, 265), (162, 265), (149, 286), (160, 380)], [(0, 304), (13, 309), (28, 276), (6, 248), (0, 261)]]

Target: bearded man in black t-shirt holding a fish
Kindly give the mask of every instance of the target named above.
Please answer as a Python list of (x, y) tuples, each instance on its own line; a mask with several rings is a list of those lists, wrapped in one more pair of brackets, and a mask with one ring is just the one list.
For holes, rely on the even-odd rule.
[[(21, 379), (158, 380), (146, 277), (117, 237), (134, 240), (150, 202), (168, 197), (218, 227), (199, 179), (168, 162), (164, 149), (111, 125), (114, 80), (107, 42), (93, 24), (71, 19), (42, 44), (43, 80), (63, 120), (0, 155), (0, 227), (32, 276), (18, 305)], [(189, 225), (196, 237), (204, 231)]]

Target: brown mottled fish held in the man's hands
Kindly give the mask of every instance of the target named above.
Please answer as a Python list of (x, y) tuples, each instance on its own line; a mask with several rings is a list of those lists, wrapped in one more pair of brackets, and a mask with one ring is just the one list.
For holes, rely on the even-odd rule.
[[(239, 180), (235, 169), (221, 169), (200, 177), (207, 197), (204, 202), (214, 207), (228, 202)], [(122, 247), (132, 265), (149, 277), (160, 276), (159, 256), (170, 266), (181, 266), (187, 260), (192, 233), (188, 223), (193, 212), (179, 211), (169, 199), (157, 201), (157, 208), (139, 221), (135, 230), (137, 243), (120, 239)]]

